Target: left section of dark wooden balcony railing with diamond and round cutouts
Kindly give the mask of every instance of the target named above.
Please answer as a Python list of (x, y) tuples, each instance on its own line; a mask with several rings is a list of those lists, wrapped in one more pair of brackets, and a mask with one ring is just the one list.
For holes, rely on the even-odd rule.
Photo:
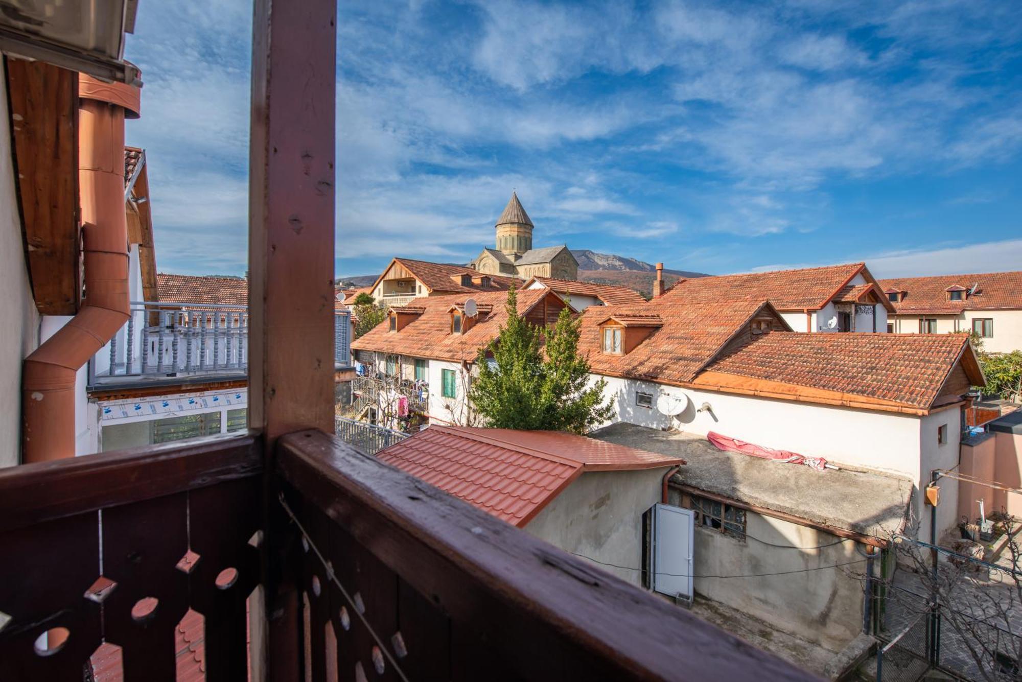
[(247, 676), (263, 453), (198, 439), (0, 471), (0, 680), (174, 680), (175, 629), (204, 618), (208, 680)]

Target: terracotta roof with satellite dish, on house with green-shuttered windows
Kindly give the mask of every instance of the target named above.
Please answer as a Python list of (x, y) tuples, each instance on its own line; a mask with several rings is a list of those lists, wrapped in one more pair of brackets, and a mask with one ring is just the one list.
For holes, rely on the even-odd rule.
[[(524, 314), (545, 296), (557, 294), (545, 289), (518, 292), (518, 313)], [(464, 305), (465, 299), (492, 305), (487, 314), (480, 312), (475, 324), (464, 334), (451, 334), (452, 305)], [(559, 299), (558, 299), (559, 300)], [(386, 325), (377, 325), (352, 343), (354, 350), (412, 355), (446, 360), (474, 360), (476, 351), (500, 333), (507, 321), (505, 303), (507, 292), (473, 293), (471, 296), (422, 296), (415, 299), (415, 306), (423, 308), (422, 314), (408, 323), (400, 332), (390, 332)], [(603, 308), (600, 308), (603, 309)]]

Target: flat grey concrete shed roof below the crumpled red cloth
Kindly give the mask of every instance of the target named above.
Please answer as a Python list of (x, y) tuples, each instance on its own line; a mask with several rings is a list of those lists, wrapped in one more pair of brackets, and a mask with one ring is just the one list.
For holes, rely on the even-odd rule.
[(913, 484), (907, 478), (723, 452), (705, 436), (618, 423), (589, 434), (611, 443), (684, 458), (670, 480), (739, 502), (841, 530), (887, 538), (903, 530)]

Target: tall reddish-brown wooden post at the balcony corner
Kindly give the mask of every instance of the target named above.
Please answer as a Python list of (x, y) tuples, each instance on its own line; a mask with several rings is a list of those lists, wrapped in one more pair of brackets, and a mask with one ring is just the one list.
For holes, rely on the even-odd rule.
[[(336, 0), (254, 0), (248, 233), (248, 426), (263, 432), (269, 680), (303, 670), (300, 603), (285, 567), (273, 452), (279, 436), (333, 429)], [(253, 629), (256, 632), (256, 629)], [(264, 666), (265, 664), (265, 666)]]

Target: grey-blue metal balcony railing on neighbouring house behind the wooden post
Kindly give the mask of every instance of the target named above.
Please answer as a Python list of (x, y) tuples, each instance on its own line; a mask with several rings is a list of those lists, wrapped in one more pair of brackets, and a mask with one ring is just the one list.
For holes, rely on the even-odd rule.
[[(351, 312), (334, 315), (334, 362), (351, 367)], [(128, 322), (93, 357), (89, 383), (247, 372), (246, 306), (135, 301)]]

